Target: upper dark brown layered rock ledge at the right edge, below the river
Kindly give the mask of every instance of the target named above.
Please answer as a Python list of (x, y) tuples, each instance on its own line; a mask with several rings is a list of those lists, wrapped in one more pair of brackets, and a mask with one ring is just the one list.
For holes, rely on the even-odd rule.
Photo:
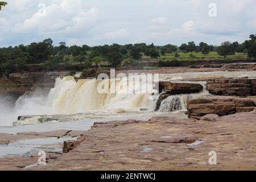
[(256, 78), (221, 78), (207, 82), (210, 93), (222, 96), (255, 96)]

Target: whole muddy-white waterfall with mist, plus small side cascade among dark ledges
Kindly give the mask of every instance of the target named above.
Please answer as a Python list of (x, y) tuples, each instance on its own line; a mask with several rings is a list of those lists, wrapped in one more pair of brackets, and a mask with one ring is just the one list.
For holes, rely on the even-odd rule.
[[(102, 82), (110, 82), (109, 88), (116, 86), (119, 92), (98, 92), (98, 85)], [(126, 86), (123, 86), (125, 82)], [(158, 96), (151, 96), (150, 92), (144, 92), (149, 87), (147, 82), (140, 83), (141, 92), (137, 92), (136, 89), (134, 92), (126, 92), (127, 90), (133, 90), (135, 84), (138, 84), (138, 82), (127, 85), (127, 81), (122, 79), (112, 82), (111, 80), (96, 79), (75, 80), (72, 76), (56, 78), (55, 86), (49, 93), (36, 92), (32, 95), (24, 94), (19, 97), (15, 103), (14, 111), (9, 115), (15, 116), (15, 118), (21, 115), (27, 115), (28, 117), (22, 117), (25, 119), (20, 118), (16, 122), (12, 118), (9, 125), (13, 122), (14, 125), (30, 125), (43, 121), (58, 122), (67, 121), (68, 119), (73, 121), (82, 118), (153, 114)], [(151, 89), (153, 89), (152, 85)], [(185, 110), (187, 99), (197, 97), (197, 95), (198, 97), (201, 96), (201, 94), (170, 96), (162, 101), (159, 111), (171, 113), (177, 110)], [(33, 115), (32, 118), (29, 115)], [(47, 115), (53, 115), (53, 117)]]

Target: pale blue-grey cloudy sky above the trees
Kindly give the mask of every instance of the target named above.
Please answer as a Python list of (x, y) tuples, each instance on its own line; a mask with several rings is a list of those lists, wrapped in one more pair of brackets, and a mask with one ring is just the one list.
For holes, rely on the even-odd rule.
[[(256, 0), (5, 0), (0, 47), (51, 38), (89, 46), (103, 44), (218, 45), (256, 34)], [(210, 3), (217, 16), (209, 16)]]

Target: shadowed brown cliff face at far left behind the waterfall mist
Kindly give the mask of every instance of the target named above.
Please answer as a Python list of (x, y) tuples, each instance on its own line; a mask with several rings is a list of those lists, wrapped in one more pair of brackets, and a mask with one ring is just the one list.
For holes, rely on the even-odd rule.
[(36, 89), (49, 90), (55, 84), (56, 77), (66, 76), (63, 72), (13, 73), (0, 78), (0, 93), (22, 95)]

